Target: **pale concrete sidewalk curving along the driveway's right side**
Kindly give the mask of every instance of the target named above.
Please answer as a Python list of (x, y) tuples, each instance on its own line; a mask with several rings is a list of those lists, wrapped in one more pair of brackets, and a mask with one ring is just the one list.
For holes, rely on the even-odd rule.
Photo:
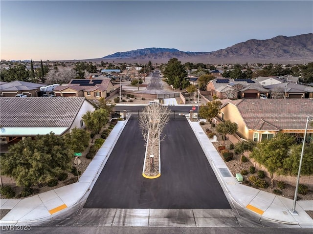
[(293, 200), (240, 184), (232, 176), (224, 160), (204, 133), (199, 122), (191, 122), (195, 135), (220, 183), (232, 201), (259, 216), (276, 222), (313, 228), (313, 219), (305, 211), (313, 211), (313, 201), (297, 201), (297, 215), (291, 214)]

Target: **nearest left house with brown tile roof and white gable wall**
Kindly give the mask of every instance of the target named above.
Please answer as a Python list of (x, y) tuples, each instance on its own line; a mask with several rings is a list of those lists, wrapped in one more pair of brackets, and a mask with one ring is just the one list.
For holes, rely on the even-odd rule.
[(1, 144), (54, 132), (61, 136), (85, 128), (82, 116), (94, 107), (80, 98), (0, 98)]

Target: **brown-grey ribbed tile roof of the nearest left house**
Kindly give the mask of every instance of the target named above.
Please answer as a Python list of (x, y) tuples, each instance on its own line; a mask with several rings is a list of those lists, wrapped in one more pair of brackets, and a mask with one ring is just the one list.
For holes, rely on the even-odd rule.
[(70, 127), (85, 98), (0, 98), (3, 127)]

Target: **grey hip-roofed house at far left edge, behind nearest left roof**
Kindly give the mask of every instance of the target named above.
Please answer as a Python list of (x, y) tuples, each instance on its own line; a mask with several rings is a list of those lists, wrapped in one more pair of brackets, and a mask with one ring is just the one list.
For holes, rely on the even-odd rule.
[(24, 94), (27, 97), (38, 97), (40, 87), (44, 84), (36, 84), (25, 81), (12, 81), (0, 84), (1, 97), (15, 97), (17, 94)]

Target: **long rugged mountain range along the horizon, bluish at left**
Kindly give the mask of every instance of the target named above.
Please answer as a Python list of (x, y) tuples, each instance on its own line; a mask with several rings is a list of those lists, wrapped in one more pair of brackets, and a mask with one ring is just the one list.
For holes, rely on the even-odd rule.
[(109, 63), (167, 63), (178, 58), (182, 63), (280, 63), (313, 62), (313, 33), (277, 36), (267, 40), (248, 40), (214, 52), (184, 52), (174, 48), (145, 48), (117, 52), (99, 59)]

